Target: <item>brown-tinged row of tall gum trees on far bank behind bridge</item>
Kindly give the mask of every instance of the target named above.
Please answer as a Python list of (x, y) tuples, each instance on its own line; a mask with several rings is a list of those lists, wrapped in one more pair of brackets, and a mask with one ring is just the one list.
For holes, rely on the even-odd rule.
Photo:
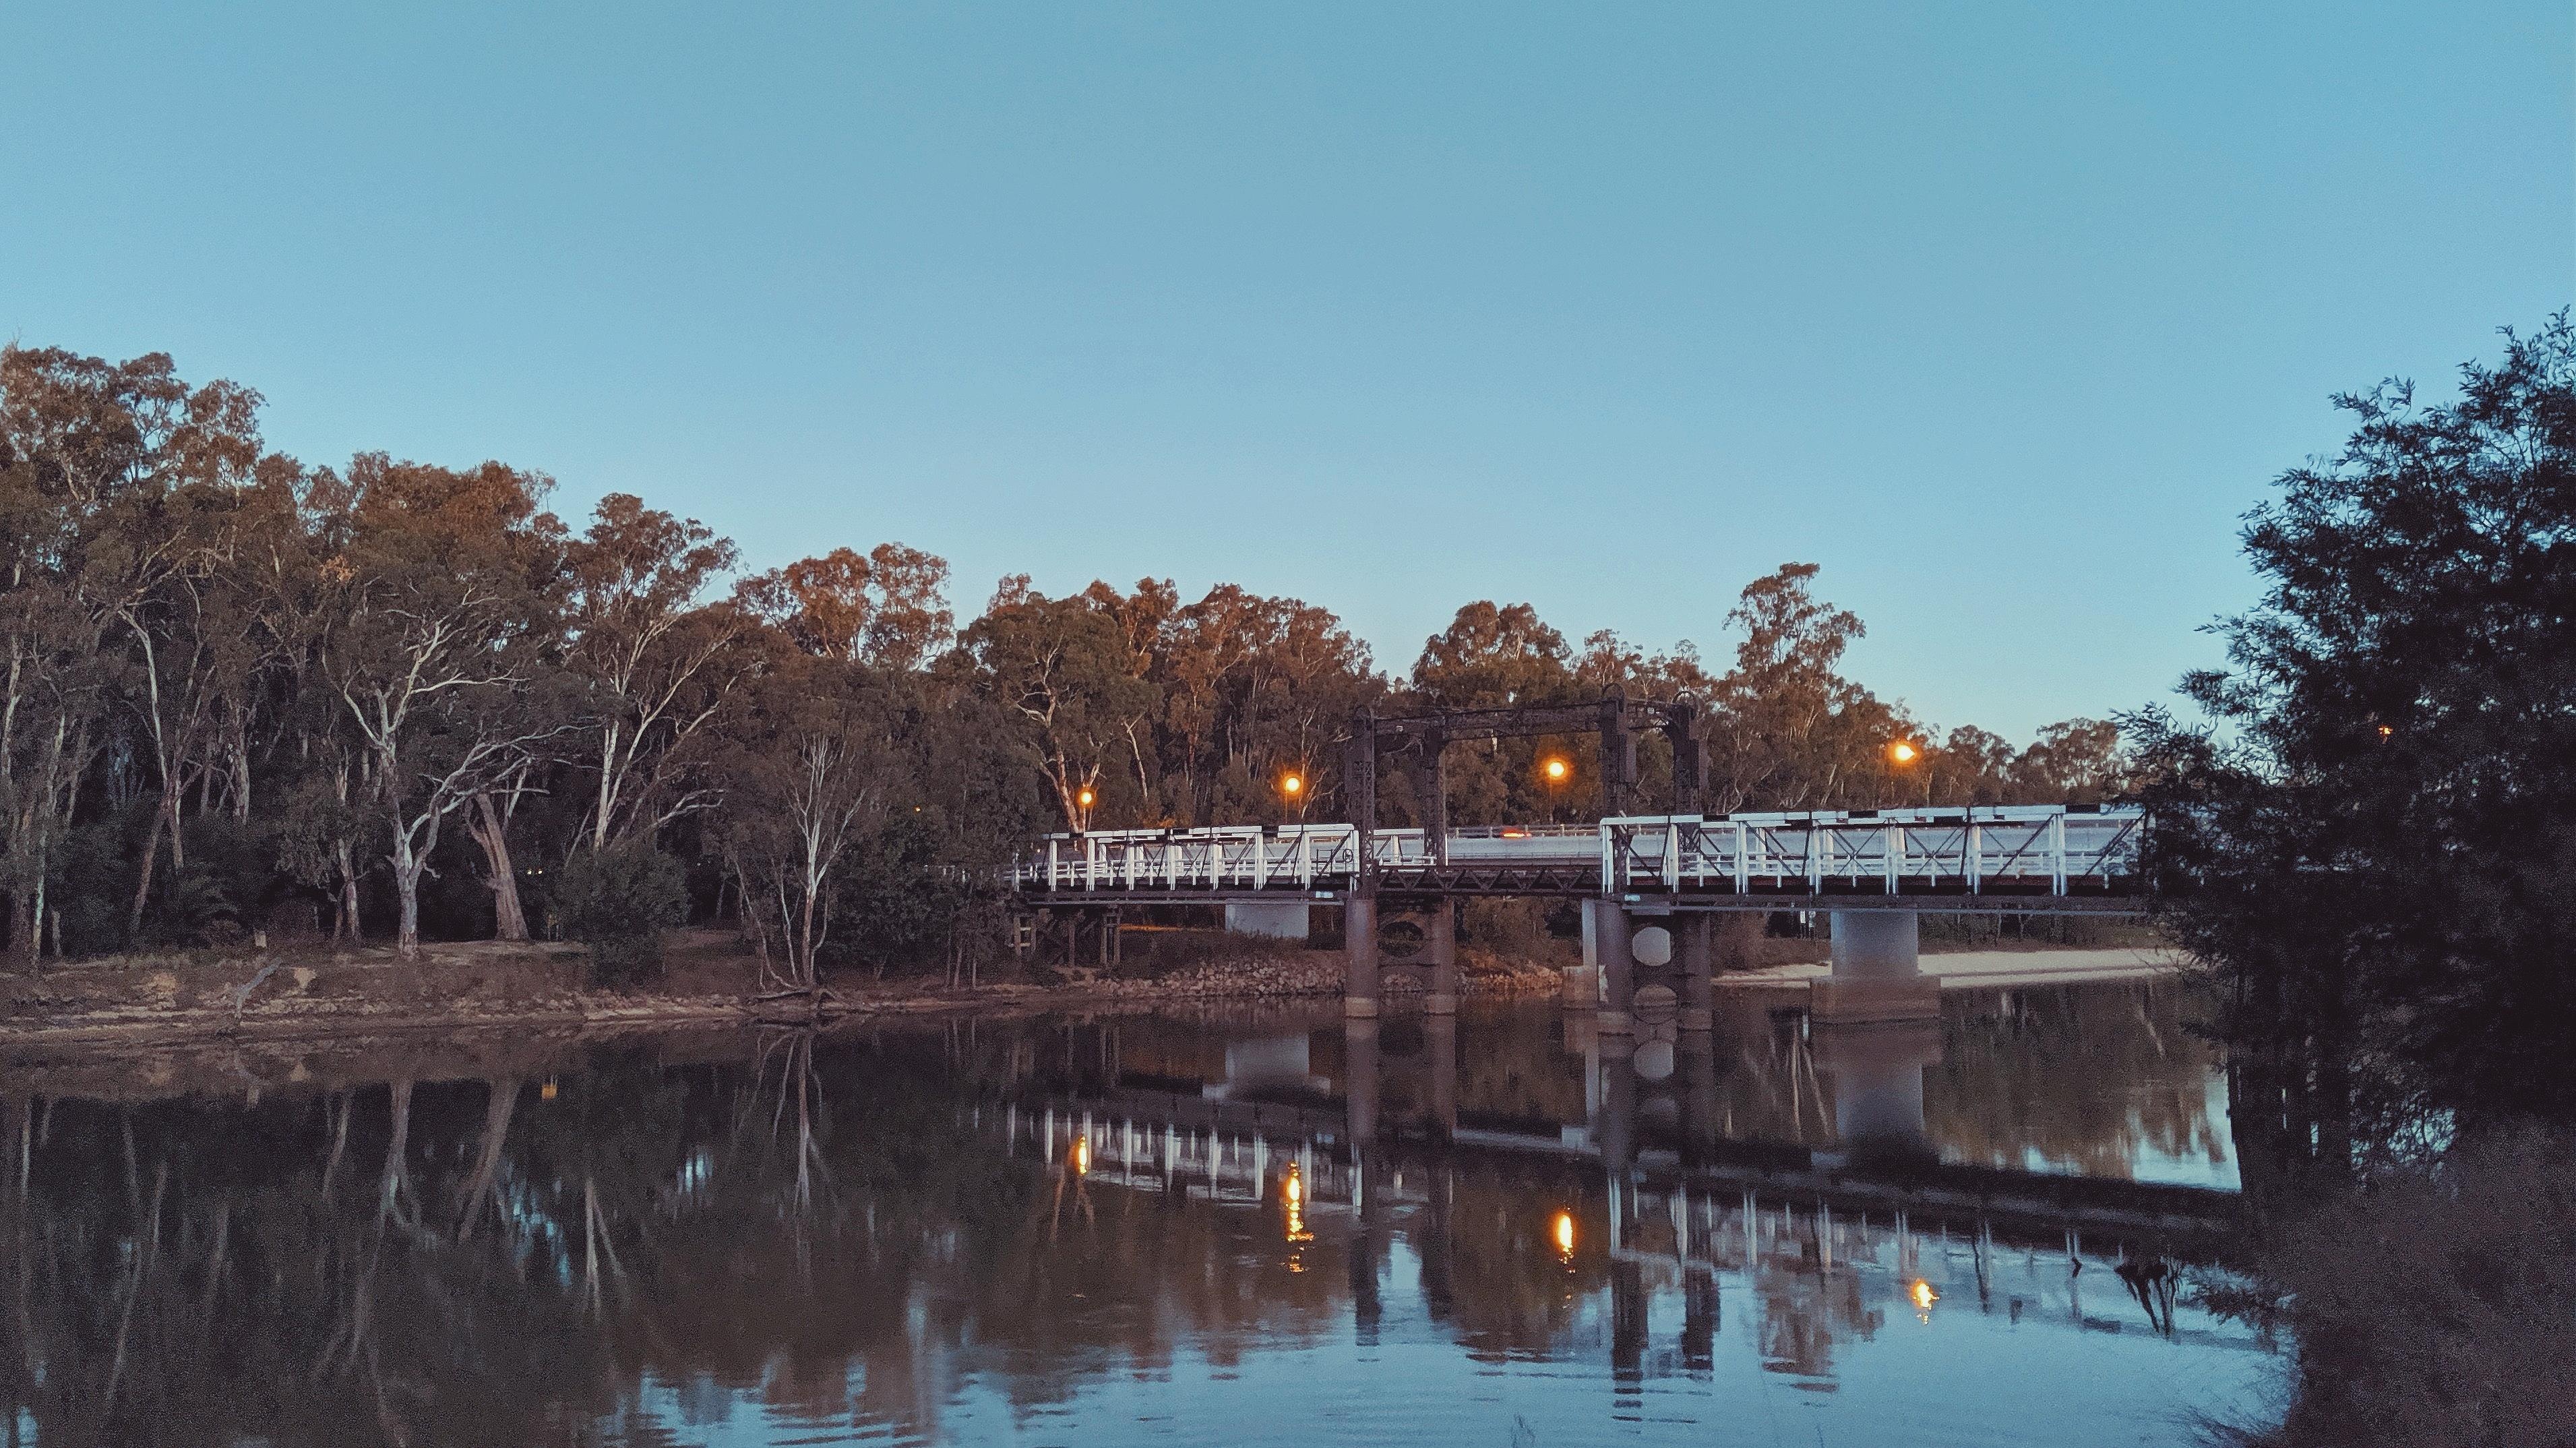
[[(1360, 706), (1692, 691), (1710, 809), (2099, 799), (2125, 770), (2102, 721), (2017, 750), (1844, 678), (1862, 624), (1814, 564), (1744, 590), (1726, 670), (1471, 603), (1391, 678), (1293, 598), (1012, 577), (958, 626), (948, 564), (902, 544), (744, 572), (629, 495), (574, 528), (538, 472), (307, 466), (258, 407), (167, 356), (0, 353), (0, 894), (26, 966), (683, 917), (739, 922), (791, 984), (956, 966), (1030, 832), (1334, 817)], [(1584, 745), (1455, 745), (1453, 819), (1597, 812)], [(1643, 768), (1654, 799), (1669, 757)]]

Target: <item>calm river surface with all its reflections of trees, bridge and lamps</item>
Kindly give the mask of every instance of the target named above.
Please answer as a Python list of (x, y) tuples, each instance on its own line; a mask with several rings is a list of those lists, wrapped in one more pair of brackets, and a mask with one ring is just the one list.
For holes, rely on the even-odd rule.
[(2187, 1015), (13, 1062), (10, 1440), (2190, 1443), (2282, 1358), (2115, 1270), (2223, 1252)]

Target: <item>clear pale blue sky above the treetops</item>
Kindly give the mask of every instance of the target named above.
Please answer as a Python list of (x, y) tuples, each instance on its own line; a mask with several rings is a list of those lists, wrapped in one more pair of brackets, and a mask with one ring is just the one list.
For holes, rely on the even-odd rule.
[(8, 5), (0, 338), (752, 567), (2166, 698), (2329, 397), (2576, 301), (2576, 8)]

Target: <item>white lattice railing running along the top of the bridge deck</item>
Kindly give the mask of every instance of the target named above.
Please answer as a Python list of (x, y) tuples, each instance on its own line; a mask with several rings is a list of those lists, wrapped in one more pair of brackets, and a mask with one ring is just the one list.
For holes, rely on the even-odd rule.
[[(1811, 814), (1636, 814), (1450, 830), (1448, 866), (1597, 868), (1605, 894), (2066, 894), (2138, 871), (2141, 809), (2004, 804)], [(1432, 866), (1422, 830), (1373, 830), (1378, 871)], [(1010, 868), (1025, 891), (1321, 891), (1358, 868), (1350, 824), (1216, 824), (1048, 835)]]

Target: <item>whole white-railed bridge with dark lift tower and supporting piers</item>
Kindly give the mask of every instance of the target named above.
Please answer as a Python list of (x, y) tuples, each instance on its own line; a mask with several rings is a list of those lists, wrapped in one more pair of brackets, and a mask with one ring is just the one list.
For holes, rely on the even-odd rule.
[[(2007, 804), (1718, 814), (1705, 709), (1692, 698), (1450, 709), (1401, 719), (1360, 711), (1342, 739), (1342, 822), (1048, 835), (1007, 879), (1036, 943), (1084, 922), (1115, 958), (1133, 904), (1221, 904), (1229, 925), (1306, 935), (1314, 907), (1342, 915), (1352, 1018), (1378, 1013), (1386, 971), (1419, 971), (1432, 1015), (1458, 1010), (1458, 902), (1558, 897), (1584, 907), (1584, 969), (1566, 1002), (1625, 1033), (1641, 1000), (1677, 1002), (1682, 1031), (1710, 1028), (1710, 917), (1726, 910), (1826, 912), (1834, 971), (1816, 1010), (1837, 1020), (1914, 1020), (1940, 1010), (1922, 976), (1924, 912), (2136, 915), (2143, 910), (2146, 814), (2133, 806)], [(1592, 732), (1607, 812), (1592, 824), (1450, 827), (1450, 742)], [(1628, 812), (1638, 739), (1672, 750), (1664, 814)], [(1378, 827), (1378, 768), (1412, 770), (1419, 827)], [(1383, 912), (1383, 915), (1381, 915)], [(1412, 917), (1412, 920), (1406, 920)]]

